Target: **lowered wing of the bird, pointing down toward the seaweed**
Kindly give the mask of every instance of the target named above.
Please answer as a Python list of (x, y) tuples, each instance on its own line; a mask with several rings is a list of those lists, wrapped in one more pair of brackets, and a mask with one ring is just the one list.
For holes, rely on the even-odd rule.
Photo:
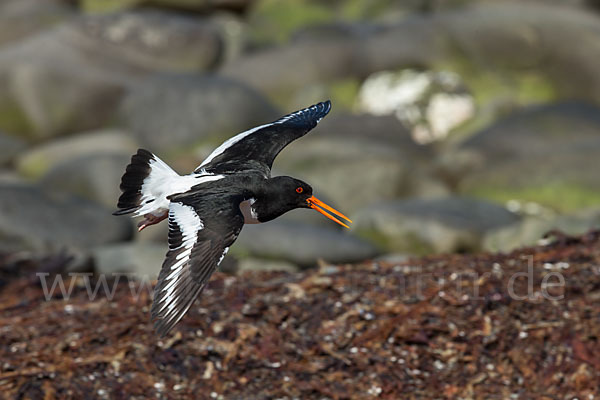
[(239, 201), (214, 199), (197, 204), (178, 195), (169, 206), (169, 251), (154, 289), (151, 318), (166, 335), (185, 315), (217, 269), (244, 224)]

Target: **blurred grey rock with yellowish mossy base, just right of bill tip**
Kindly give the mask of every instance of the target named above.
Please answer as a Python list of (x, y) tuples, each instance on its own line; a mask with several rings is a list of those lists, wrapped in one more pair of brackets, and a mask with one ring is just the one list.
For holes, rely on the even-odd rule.
[(387, 251), (429, 254), (479, 250), (486, 232), (519, 216), (480, 200), (442, 197), (375, 204), (353, 220), (353, 231)]

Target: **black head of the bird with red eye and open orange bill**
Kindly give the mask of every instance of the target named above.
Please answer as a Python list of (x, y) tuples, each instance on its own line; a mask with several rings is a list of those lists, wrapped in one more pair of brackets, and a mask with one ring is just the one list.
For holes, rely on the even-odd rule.
[[(272, 211), (281, 211), (279, 213), (279, 215), (281, 215), (295, 208), (312, 208), (313, 210), (320, 212), (332, 221), (335, 221), (338, 224), (349, 228), (348, 225), (340, 221), (334, 215), (350, 223), (352, 221), (341, 212), (337, 211), (331, 206), (328, 206), (327, 204), (323, 203), (321, 200), (313, 196), (313, 189), (308, 183), (289, 176), (278, 176), (275, 178), (271, 178), (269, 181), (271, 181), (269, 185), (270, 188), (275, 192), (275, 196), (270, 197), (276, 198), (274, 202), (270, 202), (271, 207), (269, 208), (272, 208)], [(273, 218), (276, 218), (277, 216), (274, 216)]]

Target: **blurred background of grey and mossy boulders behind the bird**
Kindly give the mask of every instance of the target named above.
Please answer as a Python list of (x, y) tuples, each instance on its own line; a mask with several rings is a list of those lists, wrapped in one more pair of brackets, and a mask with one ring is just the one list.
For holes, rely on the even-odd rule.
[(156, 275), (166, 224), (110, 215), (138, 147), (180, 173), (330, 98), (276, 174), (354, 219), (296, 210), (224, 269), (534, 244), (600, 226), (600, 2), (3, 0), (0, 251)]

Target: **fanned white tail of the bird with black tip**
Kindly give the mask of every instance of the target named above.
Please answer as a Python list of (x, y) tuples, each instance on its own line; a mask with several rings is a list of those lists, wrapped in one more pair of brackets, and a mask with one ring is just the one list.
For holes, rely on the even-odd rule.
[[(179, 175), (148, 150), (138, 149), (121, 178), (121, 197), (114, 215), (152, 213), (160, 209), (165, 183)], [(161, 204), (158, 204), (161, 203)], [(167, 205), (168, 207), (168, 205)]]

